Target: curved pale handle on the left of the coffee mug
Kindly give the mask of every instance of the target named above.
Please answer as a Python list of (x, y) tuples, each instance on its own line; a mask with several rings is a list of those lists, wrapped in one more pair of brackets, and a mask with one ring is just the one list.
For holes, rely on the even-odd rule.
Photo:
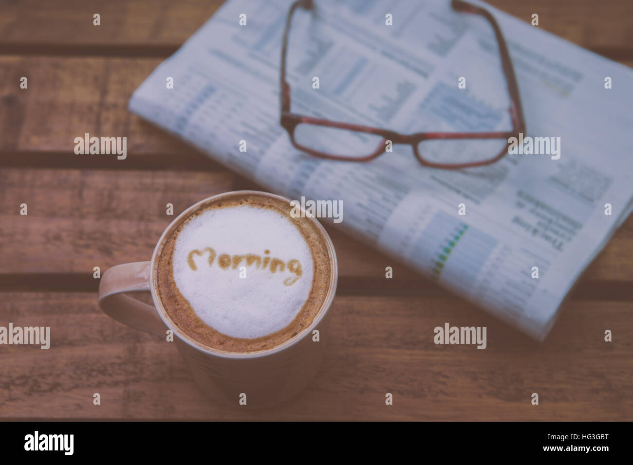
[(111, 318), (137, 330), (165, 337), (168, 329), (156, 308), (125, 292), (149, 292), (151, 261), (124, 263), (108, 268), (99, 283), (99, 307)]

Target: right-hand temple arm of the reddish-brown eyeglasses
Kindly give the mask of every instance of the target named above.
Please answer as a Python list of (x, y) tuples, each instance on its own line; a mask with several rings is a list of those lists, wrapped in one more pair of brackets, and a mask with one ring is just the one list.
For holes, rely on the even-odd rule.
[(525, 120), (523, 118), (523, 106), (521, 104), (521, 96), (518, 91), (517, 76), (515, 75), (514, 68), (512, 66), (510, 52), (508, 51), (506, 40), (503, 38), (501, 28), (499, 28), (497, 21), (494, 19), (494, 16), (492, 16), (491, 13), (487, 11), (487, 9), (481, 8), (477, 5), (473, 5), (472, 3), (468, 3), (462, 0), (452, 0), (451, 6), (455, 11), (460, 11), (461, 13), (472, 13), (474, 15), (484, 16), (484, 18), (486, 18), (492, 26), (492, 30), (494, 30), (494, 35), (496, 36), (497, 43), (499, 45), (499, 53), (501, 54), (501, 66), (506, 77), (506, 83), (508, 84), (508, 93), (510, 94), (510, 99), (512, 101), (510, 107), (512, 126), (515, 130), (517, 130), (517, 132), (525, 132)]

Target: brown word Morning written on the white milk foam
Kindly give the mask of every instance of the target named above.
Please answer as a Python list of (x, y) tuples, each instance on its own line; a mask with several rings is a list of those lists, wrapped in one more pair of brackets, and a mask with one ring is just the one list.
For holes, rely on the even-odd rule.
[[(194, 262), (194, 256), (202, 256), (205, 252), (208, 252), (209, 258), (208, 263), (209, 266), (213, 266), (213, 261), (215, 261), (215, 250), (211, 247), (205, 247), (202, 250), (194, 249), (187, 255), (187, 264), (189, 264), (189, 268), (193, 271), (197, 270), (197, 265)], [(264, 251), (264, 256), (260, 256), (258, 254), (244, 254), (244, 255), (234, 255), (230, 256), (229, 254), (222, 254), (218, 257), (218, 266), (223, 270), (228, 270), (232, 268), (236, 270), (237, 267), (244, 263), (246, 266), (256, 265), (256, 268), (261, 270), (265, 270), (268, 268), (271, 273), (276, 273), (277, 270), (284, 271), (286, 268), (290, 271), (294, 276), (291, 278), (286, 278), (284, 280), (284, 284), (290, 286), (294, 284), (301, 275), (303, 275), (303, 269), (301, 268), (301, 262), (299, 260), (289, 260), (287, 263), (279, 258), (267, 257), (266, 255), (270, 254), (269, 250)]]

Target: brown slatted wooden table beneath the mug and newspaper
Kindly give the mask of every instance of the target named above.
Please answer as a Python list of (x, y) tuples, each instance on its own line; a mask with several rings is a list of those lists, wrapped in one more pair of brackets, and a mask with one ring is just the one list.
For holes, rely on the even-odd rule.
[[(177, 214), (253, 186), (127, 111), (132, 91), (219, 3), (0, 3), (0, 326), (51, 326), (52, 338), (49, 350), (0, 346), (0, 418), (632, 419), (633, 218), (544, 344), (331, 232), (341, 278), (322, 371), (268, 411), (208, 401), (172, 345), (99, 311), (93, 268), (149, 259), (173, 218), (167, 203)], [(633, 63), (629, 0), (492, 3), (526, 21), (538, 13), (542, 29)], [(127, 136), (128, 159), (76, 156), (85, 132)], [(487, 349), (434, 345), (432, 328), (445, 321), (487, 326)]]

